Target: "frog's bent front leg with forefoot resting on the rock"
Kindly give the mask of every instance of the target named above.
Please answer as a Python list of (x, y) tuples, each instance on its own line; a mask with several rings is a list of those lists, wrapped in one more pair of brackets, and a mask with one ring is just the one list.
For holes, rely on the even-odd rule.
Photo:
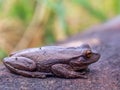
[(83, 75), (79, 72), (74, 71), (72, 67), (67, 64), (53, 65), (52, 72), (56, 76), (63, 77), (63, 78), (87, 78), (86, 75)]

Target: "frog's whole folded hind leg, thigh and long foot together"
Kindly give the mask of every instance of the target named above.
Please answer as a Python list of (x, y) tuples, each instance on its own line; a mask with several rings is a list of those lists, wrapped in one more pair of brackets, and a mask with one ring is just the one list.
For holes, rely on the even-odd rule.
[(45, 78), (47, 73), (37, 72), (36, 63), (25, 57), (7, 57), (4, 58), (3, 63), (13, 73), (26, 76)]

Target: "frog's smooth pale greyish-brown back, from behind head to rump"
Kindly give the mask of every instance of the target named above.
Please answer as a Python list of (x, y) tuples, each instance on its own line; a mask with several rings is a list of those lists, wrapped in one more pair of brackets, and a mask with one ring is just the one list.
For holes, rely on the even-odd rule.
[(16, 52), (13, 56), (23, 56), (32, 60), (69, 60), (81, 55), (82, 49), (74, 47), (66, 48), (60, 46), (46, 46), (41, 48), (31, 48)]

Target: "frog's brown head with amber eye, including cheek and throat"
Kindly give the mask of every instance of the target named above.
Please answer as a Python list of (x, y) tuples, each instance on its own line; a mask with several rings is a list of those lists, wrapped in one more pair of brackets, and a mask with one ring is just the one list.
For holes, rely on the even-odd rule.
[(77, 50), (80, 51), (80, 56), (70, 61), (70, 65), (75, 70), (87, 69), (90, 64), (98, 61), (100, 58), (100, 54), (93, 51), (88, 44), (77, 47)]

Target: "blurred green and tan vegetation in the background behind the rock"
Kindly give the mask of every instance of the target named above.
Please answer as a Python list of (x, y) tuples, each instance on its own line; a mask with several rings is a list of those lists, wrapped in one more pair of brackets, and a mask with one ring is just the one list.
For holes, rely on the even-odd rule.
[(120, 0), (0, 0), (0, 59), (62, 41), (120, 13)]

